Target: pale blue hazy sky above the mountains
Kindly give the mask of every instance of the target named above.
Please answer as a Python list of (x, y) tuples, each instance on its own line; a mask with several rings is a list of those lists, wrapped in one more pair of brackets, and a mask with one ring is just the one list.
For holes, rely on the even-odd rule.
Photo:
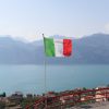
[(109, 34), (108, 11), (109, 0), (0, 0), (0, 35), (31, 41)]

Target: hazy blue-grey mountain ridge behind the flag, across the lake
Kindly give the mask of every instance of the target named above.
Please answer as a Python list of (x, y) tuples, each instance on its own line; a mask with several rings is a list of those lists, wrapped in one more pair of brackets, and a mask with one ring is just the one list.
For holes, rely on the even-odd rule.
[[(109, 64), (109, 35), (93, 34), (73, 39), (70, 58), (46, 58), (48, 64)], [(0, 64), (44, 64), (44, 41), (24, 43), (0, 37)]]

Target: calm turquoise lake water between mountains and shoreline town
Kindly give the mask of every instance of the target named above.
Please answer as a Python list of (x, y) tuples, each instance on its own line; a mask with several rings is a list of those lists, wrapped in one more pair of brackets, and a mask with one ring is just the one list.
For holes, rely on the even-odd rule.
[[(47, 65), (47, 90), (96, 87), (109, 84), (109, 65)], [(45, 92), (44, 65), (0, 65), (0, 93)]]

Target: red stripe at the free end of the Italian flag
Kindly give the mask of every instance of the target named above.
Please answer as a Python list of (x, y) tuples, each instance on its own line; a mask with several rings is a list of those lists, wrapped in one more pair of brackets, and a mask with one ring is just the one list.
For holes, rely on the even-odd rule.
[(65, 57), (71, 56), (72, 53), (72, 40), (71, 39), (63, 39), (63, 55)]

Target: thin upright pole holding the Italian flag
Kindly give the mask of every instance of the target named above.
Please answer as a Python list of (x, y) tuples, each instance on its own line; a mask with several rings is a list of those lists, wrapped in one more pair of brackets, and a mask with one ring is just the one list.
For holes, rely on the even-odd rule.
[[(45, 38), (45, 35), (43, 34), (43, 38)], [(45, 41), (44, 41), (44, 47), (45, 47)], [(46, 50), (46, 48), (45, 48), (45, 50)], [(44, 51), (45, 51), (44, 50)], [(47, 95), (46, 95), (46, 93), (47, 93), (47, 63), (46, 63), (46, 56), (44, 56), (44, 65), (45, 65), (45, 97), (46, 97), (46, 100), (45, 100), (45, 109), (47, 109)]]

